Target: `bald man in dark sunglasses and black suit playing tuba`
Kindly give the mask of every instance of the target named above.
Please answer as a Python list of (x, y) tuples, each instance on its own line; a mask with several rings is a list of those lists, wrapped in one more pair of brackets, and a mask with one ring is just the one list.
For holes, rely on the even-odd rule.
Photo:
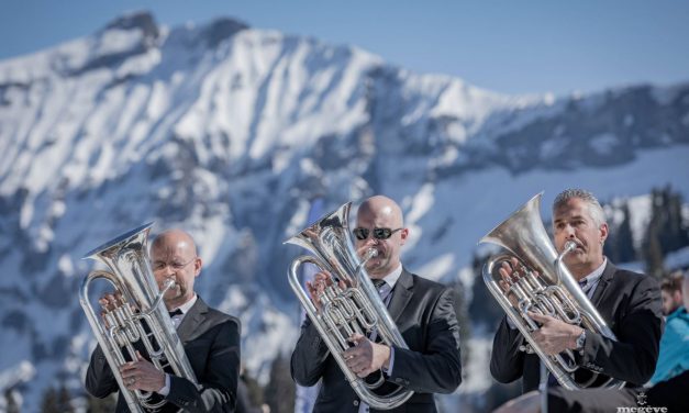
[[(462, 382), (459, 360), (459, 326), (454, 310), (454, 294), (448, 287), (409, 272), (400, 260), (400, 252), (409, 236), (400, 206), (389, 198), (377, 196), (359, 206), (353, 231), (357, 253), (378, 252), (366, 264), (378, 287), (388, 312), (409, 349), (377, 344), (355, 334), (354, 347), (345, 351), (347, 366), (358, 377), (384, 371), (386, 383), (379, 393), (389, 393), (397, 386), (414, 391), (403, 405), (390, 412), (435, 412), (433, 393), (451, 393)], [(307, 286), (311, 300), (320, 308), (318, 292), (330, 282), (326, 272), (319, 272)], [(301, 386), (322, 380), (314, 412), (368, 412), (346, 381), (344, 373), (309, 319), (292, 353), (291, 373)], [(373, 411), (373, 410), (371, 410)]]

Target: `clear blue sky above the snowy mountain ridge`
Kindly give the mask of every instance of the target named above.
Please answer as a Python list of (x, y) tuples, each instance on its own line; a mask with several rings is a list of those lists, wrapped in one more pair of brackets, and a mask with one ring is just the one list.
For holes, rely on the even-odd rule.
[(504, 93), (689, 80), (689, 2), (680, 0), (10, 0), (0, 5), (0, 58), (93, 33), (142, 9), (166, 25), (230, 15), (354, 44), (416, 72)]

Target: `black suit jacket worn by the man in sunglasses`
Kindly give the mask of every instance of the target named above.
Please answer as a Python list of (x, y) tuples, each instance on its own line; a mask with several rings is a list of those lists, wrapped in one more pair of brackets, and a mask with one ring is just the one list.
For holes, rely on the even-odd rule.
[[(394, 347), (394, 364), (387, 380), (415, 393), (388, 412), (435, 412), (432, 393), (451, 393), (462, 382), (459, 326), (453, 302), (451, 288), (402, 270), (388, 312), (409, 349)], [(301, 386), (322, 380), (314, 412), (358, 411), (358, 397), (309, 319), (292, 353), (291, 373)]]

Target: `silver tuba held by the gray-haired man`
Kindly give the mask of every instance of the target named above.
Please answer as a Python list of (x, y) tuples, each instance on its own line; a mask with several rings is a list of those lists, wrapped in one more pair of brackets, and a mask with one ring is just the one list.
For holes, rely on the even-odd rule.
[[(541, 220), (542, 196), (543, 192), (533, 197), (480, 239), (479, 244), (497, 244), (509, 252), (491, 257), (484, 266), (482, 276), (488, 290), (529, 343), (521, 349), (538, 355), (563, 388), (580, 390), (599, 381), (600, 373), (592, 372), (590, 378), (576, 381), (575, 371), (579, 366), (575, 361), (574, 353), (567, 350), (555, 356), (546, 355), (532, 338), (532, 333), (538, 330), (538, 325), (527, 312), (551, 315), (614, 341), (616, 337), (562, 263), (576, 244), (567, 243), (562, 254), (557, 254), (553, 247)], [(515, 270), (523, 277), (512, 282), (505, 294), (498, 283), (502, 279), (498, 269), (503, 261), (509, 261), (512, 257), (519, 260), (519, 268)], [(516, 298), (516, 306), (508, 299), (511, 293)], [(605, 377), (601, 387), (619, 389), (624, 384), (624, 381)]]

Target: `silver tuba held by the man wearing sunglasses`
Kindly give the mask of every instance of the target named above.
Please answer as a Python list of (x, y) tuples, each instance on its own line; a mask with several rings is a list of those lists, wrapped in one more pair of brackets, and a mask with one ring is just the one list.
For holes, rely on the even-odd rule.
[[(299, 245), (313, 254), (292, 261), (288, 271), (289, 284), (354, 392), (371, 409), (394, 409), (409, 400), (413, 391), (396, 387), (388, 394), (376, 394), (373, 390), (385, 382), (382, 375), (377, 382), (368, 383), (349, 370), (342, 356), (349, 348), (347, 337), (351, 334), (367, 335), (374, 328), (388, 346), (409, 348), (364, 269), (366, 261), (375, 257), (377, 252), (369, 250), (362, 260), (354, 249), (348, 225), (351, 206), (352, 202), (345, 203), (285, 242)], [(321, 311), (315, 309), (299, 282), (298, 270), (304, 263), (311, 263), (333, 277), (333, 284), (320, 297)], [(338, 286), (338, 280), (344, 282), (345, 288)]]

